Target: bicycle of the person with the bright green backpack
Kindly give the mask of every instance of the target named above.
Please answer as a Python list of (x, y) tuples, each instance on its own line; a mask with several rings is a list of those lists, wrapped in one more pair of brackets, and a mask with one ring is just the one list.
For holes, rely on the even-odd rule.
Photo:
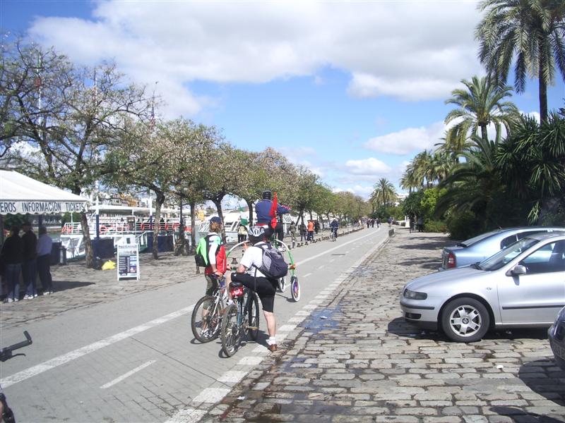
[(213, 295), (204, 295), (192, 310), (191, 329), (201, 343), (218, 338), (222, 329), (222, 313), (225, 309), (225, 276), (218, 278), (218, 288)]

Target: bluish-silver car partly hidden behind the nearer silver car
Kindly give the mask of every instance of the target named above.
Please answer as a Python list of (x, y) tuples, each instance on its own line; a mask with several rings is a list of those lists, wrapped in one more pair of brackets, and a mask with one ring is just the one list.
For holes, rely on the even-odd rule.
[(439, 270), (453, 269), (482, 262), (495, 252), (503, 250), (517, 240), (535, 233), (565, 231), (565, 228), (545, 226), (523, 226), (521, 228), (506, 228), (482, 233), (451, 247), (444, 247), (441, 252), (441, 267)]

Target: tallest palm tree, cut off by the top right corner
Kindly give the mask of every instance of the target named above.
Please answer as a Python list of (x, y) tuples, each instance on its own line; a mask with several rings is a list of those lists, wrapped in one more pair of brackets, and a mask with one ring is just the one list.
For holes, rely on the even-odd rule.
[(547, 85), (554, 81), (555, 66), (565, 80), (565, 2), (563, 0), (486, 0), (487, 11), (477, 25), (479, 58), (499, 85), (506, 83), (514, 65), (514, 88), (524, 92), (525, 80), (540, 84), (540, 116), (547, 120)]

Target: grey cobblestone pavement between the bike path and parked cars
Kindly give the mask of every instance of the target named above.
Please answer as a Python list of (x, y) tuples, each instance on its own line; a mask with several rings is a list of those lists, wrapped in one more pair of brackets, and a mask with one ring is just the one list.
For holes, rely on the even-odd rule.
[(565, 422), (545, 331), (451, 343), (400, 318), (403, 284), (435, 271), (444, 235), (400, 229), (202, 422)]

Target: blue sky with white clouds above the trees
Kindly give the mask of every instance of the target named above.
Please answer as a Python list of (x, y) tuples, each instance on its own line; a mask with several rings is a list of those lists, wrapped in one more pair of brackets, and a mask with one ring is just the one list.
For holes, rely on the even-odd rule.
[[(477, 4), (0, 0), (0, 28), (75, 63), (113, 60), (162, 97), (165, 118), (215, 125), (242, 149), (273, 147), (367, 198), (380, 178), (402, 191), (405, 166), (444, 136), (445, 100), (484, 75)], [(549, 109), (564, 98), (557, 78)], [(538, 112), (537, 82), (511, 100)]]

